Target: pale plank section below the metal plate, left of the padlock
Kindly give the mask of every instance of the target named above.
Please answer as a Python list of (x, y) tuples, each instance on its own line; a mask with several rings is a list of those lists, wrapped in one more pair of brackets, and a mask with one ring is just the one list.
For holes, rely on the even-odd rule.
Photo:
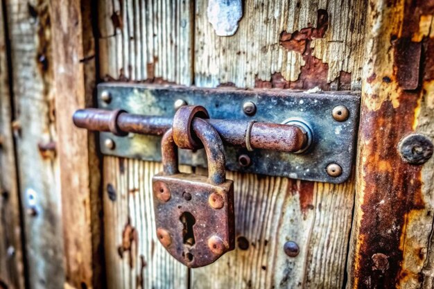
[[(155, 234), (152, 177), (162, 164), (104, 158), (107, 287), (187, 288), (187, 268)], [(186, 173), (189, 167), (182, 167)]]

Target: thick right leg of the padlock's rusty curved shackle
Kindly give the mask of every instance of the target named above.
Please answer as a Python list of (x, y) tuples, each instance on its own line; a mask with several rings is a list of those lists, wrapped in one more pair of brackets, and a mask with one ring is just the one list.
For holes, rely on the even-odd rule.
[(220, 135), (212, 125), (198, 117), (193, 119), (191, 124), (207, 152), (208, 181), (211, 184), (223, 184), (226, 180), (226, 159)]

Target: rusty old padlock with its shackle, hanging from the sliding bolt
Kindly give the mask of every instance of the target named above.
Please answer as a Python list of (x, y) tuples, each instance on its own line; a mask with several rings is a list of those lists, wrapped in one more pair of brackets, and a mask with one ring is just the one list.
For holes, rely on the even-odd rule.
[[(180, 123), (181, 115), (175, 115), (174, 123)], [(198, 268), (234, 249), (234, 182), (225, 177), (218, 132), (202, 119), (190, 117), (188, 122), (192, 125), (184, 129), (193, 128), (207, 152), (209, 175), (179, 173), (173, 130), (168, 130), (162, 140), (164, 171), (153, 177), (153, 196), (160, 243), (184, 265)]]

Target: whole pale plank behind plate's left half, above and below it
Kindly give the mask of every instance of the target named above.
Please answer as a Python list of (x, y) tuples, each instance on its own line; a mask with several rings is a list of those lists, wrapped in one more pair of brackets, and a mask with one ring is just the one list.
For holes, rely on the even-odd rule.
[[(192, 1), (102, 0), (98, 14), (101, 78), (191, 85)], [(152, 162), (105, 157), (108, 288), (187, 287), (188, 270), (155, 236), (150, 184), (161, 169)]]

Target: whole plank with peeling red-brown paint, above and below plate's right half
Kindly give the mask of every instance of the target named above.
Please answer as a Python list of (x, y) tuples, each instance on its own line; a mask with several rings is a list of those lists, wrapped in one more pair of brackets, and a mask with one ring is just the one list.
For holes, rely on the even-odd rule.
[[(207, 21), (207, 1), (196, 1), (196, 85), (361, 86), (365, 1), (244, 5), (236, 35), (218, 37)], [(231, 177), (237, 238), (249, 247), (243, 250), (238, 243), (223, 259), (193, 270), (193, 288), (344, 286), (354, 178), (331, 185), (229, 173)], [(284, 253), (288, 240), (300, 247), (295, 258)]]

